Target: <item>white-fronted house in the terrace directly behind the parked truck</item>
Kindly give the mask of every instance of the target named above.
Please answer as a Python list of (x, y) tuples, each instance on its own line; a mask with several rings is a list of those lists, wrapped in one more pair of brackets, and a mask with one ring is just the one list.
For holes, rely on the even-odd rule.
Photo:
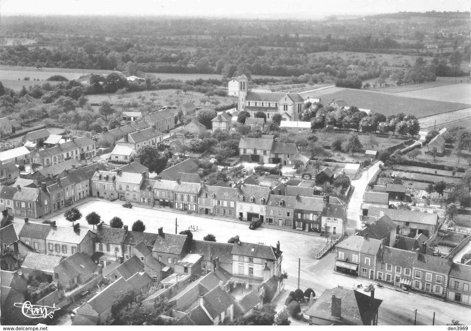
[(265, 206), (270, 196), (270, 188), (258, 185), (242, 184), (238, 188), (236, 211), (239, 219), (250, 222), (260, 218), (264, 222)]

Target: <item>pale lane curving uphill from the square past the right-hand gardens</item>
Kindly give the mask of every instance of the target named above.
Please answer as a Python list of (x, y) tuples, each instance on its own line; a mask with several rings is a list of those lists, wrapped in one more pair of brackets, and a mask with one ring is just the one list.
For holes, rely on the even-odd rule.
[(375, 163), (368, 171), (361, 174), (360, 179), (352, 181), (351, 185), (355, 188), (350, 198), (349, 206), (347, 208), (347, 234), (353, 235), (355, 229), (361, 228), (361, 204), (363, 202), (363, 194), (365, 193), (368, 182), (379, 171), (381, 161)]

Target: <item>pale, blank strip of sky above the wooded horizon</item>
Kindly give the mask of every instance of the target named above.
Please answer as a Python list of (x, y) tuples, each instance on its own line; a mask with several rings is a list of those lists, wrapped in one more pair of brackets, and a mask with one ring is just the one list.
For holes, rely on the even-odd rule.
[(398, 11), (469, 11), (469, 0), (0, 0), (0, 14), (323, 18)]

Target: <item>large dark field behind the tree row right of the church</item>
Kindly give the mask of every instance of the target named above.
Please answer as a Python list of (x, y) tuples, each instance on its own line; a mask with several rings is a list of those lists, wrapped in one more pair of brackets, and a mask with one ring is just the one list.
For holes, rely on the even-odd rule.
[(322, 98), (327, 104), (333, 99), (344, 99), (349, 106), (371, 109), (373, 112), (382, 113), (385, 116), (405, 112), (420, 118), (469, 107), (469, 104), (464, 103), (407, 98), (365, 90), (342, 89), (334, 93), (329, 92), (330, 89), (314, 91), (309, 93), (309, 96), (317, 99)]

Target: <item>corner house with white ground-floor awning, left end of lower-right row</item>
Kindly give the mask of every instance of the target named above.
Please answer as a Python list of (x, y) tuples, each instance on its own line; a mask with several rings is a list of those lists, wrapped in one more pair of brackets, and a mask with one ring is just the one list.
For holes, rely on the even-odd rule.
[(374, 280), (381, 245), (382, 240), (349, 236), (335, 245), (337, 255), (334, 270)]

